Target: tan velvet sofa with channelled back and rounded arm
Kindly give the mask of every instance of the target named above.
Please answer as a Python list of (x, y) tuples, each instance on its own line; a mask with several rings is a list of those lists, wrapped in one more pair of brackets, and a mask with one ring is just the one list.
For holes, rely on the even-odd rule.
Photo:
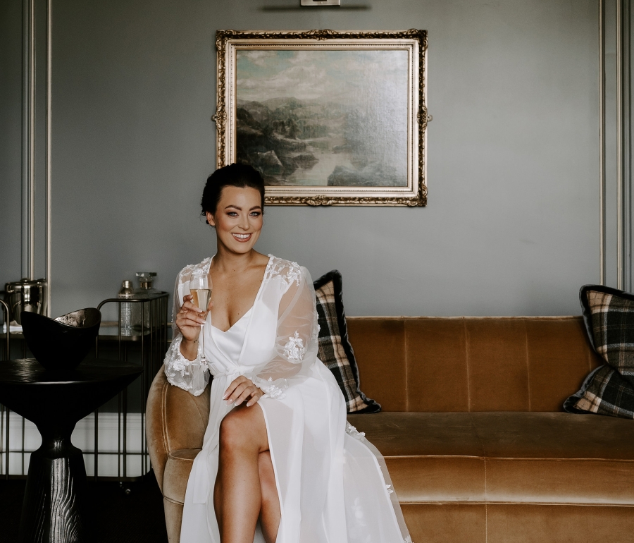
[[(414, 543), (634, 541), (634, 421), (561, 410), (600, 364), (580, 317), (348, 326), (361, 388), (383, 405), (348, 420), (385, 456)], [(147, 432), (171, 543), (208, 415), (208, 393), (156, 375)]]

